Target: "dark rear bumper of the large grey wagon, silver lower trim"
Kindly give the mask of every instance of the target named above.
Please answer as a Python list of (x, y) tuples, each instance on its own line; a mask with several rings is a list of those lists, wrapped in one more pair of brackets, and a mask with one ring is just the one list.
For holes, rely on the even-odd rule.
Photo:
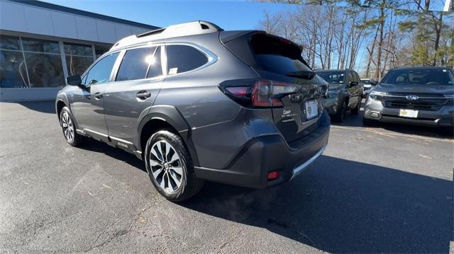
[[(308, 168), (326, 148), (329, 117), (326, 112), (319, 128), (303, 137), (297, 149), (289, 147), (282, 135), (255, 137), (240, 149), (225, 169), (195, 167), (196, 176), (205, 180), (243, 187), (265, 188), (284, 183)], [(269, 172), (279, 171), (279, 178), (268, 180)]]

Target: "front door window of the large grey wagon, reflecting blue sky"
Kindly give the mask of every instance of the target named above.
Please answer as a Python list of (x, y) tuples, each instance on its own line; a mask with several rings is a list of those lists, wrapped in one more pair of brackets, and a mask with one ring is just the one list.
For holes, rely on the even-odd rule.
[(106, 83), (109, 82), (111, 77), (112, 67), (114, 67), (118, 52), (109, 54), (103, 59), (99, 60), (92, 69), (89, 70), (87, 78), (85, 79), (85, 86), (91, 86), (94, 83)]

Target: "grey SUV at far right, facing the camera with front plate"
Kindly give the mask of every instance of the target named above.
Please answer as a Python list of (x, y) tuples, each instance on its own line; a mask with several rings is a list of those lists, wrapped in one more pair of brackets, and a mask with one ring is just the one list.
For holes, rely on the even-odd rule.
[(391, 69), (367, 97), (365, 125), (400, 122), (454, 126), (454, 72), (448, 67)]

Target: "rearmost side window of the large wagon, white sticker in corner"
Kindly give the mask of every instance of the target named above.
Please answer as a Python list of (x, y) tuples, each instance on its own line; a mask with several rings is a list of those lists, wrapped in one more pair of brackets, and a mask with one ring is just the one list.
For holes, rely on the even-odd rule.
[(205, 54), (187, 45), (168, 45), (167, 71), (169, 75), (190, 71), (208, 62)]

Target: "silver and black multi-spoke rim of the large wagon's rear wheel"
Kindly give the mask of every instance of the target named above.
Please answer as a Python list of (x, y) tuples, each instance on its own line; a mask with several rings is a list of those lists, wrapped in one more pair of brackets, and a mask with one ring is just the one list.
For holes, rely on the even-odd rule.
[(182, 185), (182, 161), (173, 146), (163, 140), (153, 144), (150, 151), (150, 174), (165, 192), (176, 192)]

